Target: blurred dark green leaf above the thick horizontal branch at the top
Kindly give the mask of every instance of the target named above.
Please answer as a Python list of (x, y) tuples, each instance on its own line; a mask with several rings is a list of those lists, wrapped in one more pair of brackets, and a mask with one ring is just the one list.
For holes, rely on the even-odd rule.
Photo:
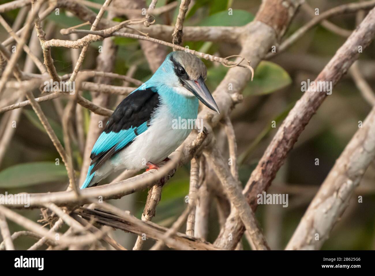
[(227, 10), (217, 12), (204, 18), (198, 26), (243, 26), (254, 20), (254, 15), (242, 10), (233, 10), (233, 15), (229, 15)]

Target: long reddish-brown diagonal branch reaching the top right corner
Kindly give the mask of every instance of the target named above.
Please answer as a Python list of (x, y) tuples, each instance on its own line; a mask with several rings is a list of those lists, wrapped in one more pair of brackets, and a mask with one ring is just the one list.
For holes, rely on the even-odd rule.
[[(369, 12), (360, 26), (352, 33), (342, 47), (336, 52), (326, 67), (321, 71), (317, 81), (332, 81), (332, 86), (341, 79), (352, 63), (358, 59), (358, 47), (366, 48), (375, 35), (375, 9)], [(308, 90), (290, 111), (287, 118), (279, 127), (275, 137), (267, 147), (263, 157), (254, 169), (243, 191), (252, 209), (257, 208), (257, 195), (266, 191), (275, 178), (287, 157), (288, 152), (297, 142), (299, 135), (310, 121), (311, 117), (326, 98), (326, 92)], [(215, 244), (226, 249), (233, 248), (238, 243), (244, 231), (240, 219), (235, 212), (229, 215), (223, 231), (220, 232)], [(233, 241), (228, 241), (228, 233), (233, 234)]]

